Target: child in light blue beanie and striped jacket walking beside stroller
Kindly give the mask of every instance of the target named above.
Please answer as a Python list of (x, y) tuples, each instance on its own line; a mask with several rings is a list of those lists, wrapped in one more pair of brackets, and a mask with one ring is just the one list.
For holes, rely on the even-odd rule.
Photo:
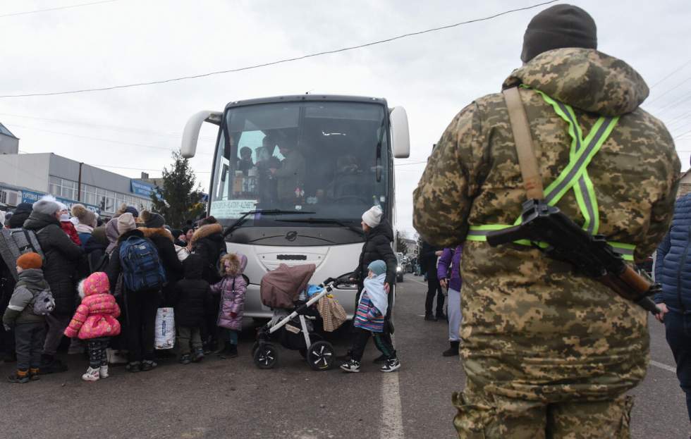
[(393, 372), (400, 368), (400, 361), (391, 342), (382, 336), (384, 335), (384, 316), (389, 307), (389, 299), (384, 289), (386, 262), (381, 259), (372, 261), (367, 269), (369, 269), (369, 276), (364, 281), (365, 287), (362, 289), (355, 319), (353, 319), (353, 326), (355, 326), (353, 349), (350, 351), (350, 360), (341, 364), (341, 369), (346, 372), (360, 371), (360, 360), (371, 335), (374, 338), (374, 345), (386, 357), (381, 371)]

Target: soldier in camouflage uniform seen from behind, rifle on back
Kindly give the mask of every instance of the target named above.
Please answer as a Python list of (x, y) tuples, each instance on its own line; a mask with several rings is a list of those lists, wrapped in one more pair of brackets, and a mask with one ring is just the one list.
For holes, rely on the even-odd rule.
[[(559, 5), (534, 17), (524, 66), (503, 87), (523, 86), (545, 187), (568, 165), (576, 126), (587, 135), (600, 116), (615, 118), (587, 166), (599, 203), (599, 218), (590, 222), (607, 240), (635, 245), (630, 259), (640, 261), (668, 229), (680, 163), (664, 125), (640, 109), (649, 92), (644, 80), (573, 37), (574, 28), (595, 38), (594, 22), (580, 8)], [(573, 108), (575, 124), (556, 113), (559, 103)], [(556, 206), (583, 225), (575, 192), (571, 187)], [(644, 378), (649, 361), (646, 312), (538, 249), (478, 239), (474, 230), (484, 225), (513, 224), (525, 199), (504, 99), (477, 99), (441, 136), (414, 194), (420, 235), (444, 247), (463, 244), (460, 353), (467, 381), (453, 395), (458, 434), (628, 438), (632, 397), (625, 392)]]

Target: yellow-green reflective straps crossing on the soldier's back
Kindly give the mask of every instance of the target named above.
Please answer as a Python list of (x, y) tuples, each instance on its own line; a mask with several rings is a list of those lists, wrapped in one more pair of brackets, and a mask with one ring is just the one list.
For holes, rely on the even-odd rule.
[[(525, 86), (522, 87), (527, 88)], [(597, 197), (595, 196), (592, 181), (588, 176), (587, 167), (602, 144), (604, 144), (611, 134), (619, 118), (600, 117), (584, 139), (573, 108), (567, 104), (563, 104), (563, 102), (555, 101), (537, 89), (533, 90), (539, 93), (544, 101), (554, 107), (554, 111), (556, 111), (558, 116), (568, 123), (568, 133), (571, 137), (569, 163), (563, 171), (561, 171), (556, 180), (544, 190), (544, 201), (550, 206), (554, 206), (561, 200), (566, 192), (573, 189), (578, 209), (580, 209), (585, 218), (585, 223), (582, 225), (583, 230), (586, 230), (591, 235), (597, 235), (600, 225)], [(513, 225), (518, 224), (520, 224), (520, 217), (513, 223)], [(511, 225), (508, 224), (471, 225), (466, 240), (487, 241), (487, 233), (492, 230), (502, 230), (509, 227), (511, 227)], [(526, 240), (516, 241), (516, 243), (521, 245), (537, 244), (542, 247), (546, 246), (543, 243), (531, 243)], [(635, 245), (623, 244), (621, 242), (609, 242), (609, 245), (611, 245), (616, 252), (620, 253), (623, 259), (633, 261)]]

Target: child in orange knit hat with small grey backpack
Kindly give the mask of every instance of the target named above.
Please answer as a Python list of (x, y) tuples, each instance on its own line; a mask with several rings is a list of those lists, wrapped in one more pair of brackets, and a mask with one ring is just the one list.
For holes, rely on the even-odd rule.
[(36, 304), (39, 296), (41, 300), (45, 298), (52, 301), (50, 287), (43, 278), (42, 266), (43, 259), (37, 253), (25, 253), (17, 258), (19, 279), (2, 317), (7, 330), (14, 328), (17, 371), (8, 377), (11, 383), (27, 383), (39, 378), (41, 350), (46, 338), (45, 314), (48, 310), (37, 307)]

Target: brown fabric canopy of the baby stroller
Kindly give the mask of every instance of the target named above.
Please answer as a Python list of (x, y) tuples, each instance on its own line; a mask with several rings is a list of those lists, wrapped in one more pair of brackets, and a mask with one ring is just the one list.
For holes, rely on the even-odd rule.
[(261, 285), (262, 303), (271, 308), (293, 308), (293, 302), (307, 287), (317, 266), (314, 264), (279, 265), (264, 275)]

